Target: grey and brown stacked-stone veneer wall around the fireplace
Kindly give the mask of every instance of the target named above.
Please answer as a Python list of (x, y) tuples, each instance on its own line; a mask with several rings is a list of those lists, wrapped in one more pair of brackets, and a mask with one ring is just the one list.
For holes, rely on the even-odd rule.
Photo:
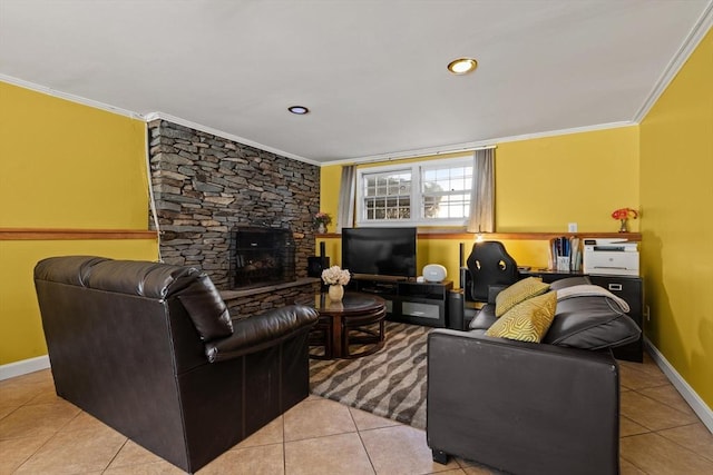
[[(296, 276), (306, 277), (307, 257), (314, 254), (312, 216), (320, 205), (319, 167), (166, 120), (149, 122), (148, 133), (165, 263), (198, 267), (218, 289), (229, 290), (229, 230), (267, 226), (293, 231)], [(319, 284), (227, 303), (232, 313), (246, 316), (292, 304), (315, 288)]]

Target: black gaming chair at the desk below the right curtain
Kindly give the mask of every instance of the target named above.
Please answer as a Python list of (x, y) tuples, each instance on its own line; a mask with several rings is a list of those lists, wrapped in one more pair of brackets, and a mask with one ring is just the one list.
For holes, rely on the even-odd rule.
[(470, 285), (465, 286), (467, 299), (475, 301), (490, 301), (492, 296), (489, 293), (499, 291), (505, 287), (515, 284), (519, 274), (517, 263), (508, 254), (502, 243), (488, 240), (476, 243), (472, 253), (466, 260), (468, 274), (470, 274)]

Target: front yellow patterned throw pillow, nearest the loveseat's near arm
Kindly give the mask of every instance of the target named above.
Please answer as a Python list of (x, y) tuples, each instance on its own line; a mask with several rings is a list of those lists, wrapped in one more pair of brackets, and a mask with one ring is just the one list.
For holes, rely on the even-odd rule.
[(539, 343), (555, 318), (557, 293), (550, 291), (527, 299), (498, 318), (486, 335), (499, 338)]

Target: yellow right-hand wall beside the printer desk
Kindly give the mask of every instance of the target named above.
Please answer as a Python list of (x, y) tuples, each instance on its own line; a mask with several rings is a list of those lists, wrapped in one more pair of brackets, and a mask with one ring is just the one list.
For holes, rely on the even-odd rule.
[(713, 31), (641, 125), (646, 335), (713, 408)]

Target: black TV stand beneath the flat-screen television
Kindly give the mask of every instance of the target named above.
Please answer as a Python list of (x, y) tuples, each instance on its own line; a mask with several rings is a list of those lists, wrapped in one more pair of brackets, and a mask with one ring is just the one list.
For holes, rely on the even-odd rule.
[(354, 276), (349, 290), (378, 295), (387, 300), (387, 319), (446, 328), (448, 293), (453, 283), (417, 283), (404, 277)]

